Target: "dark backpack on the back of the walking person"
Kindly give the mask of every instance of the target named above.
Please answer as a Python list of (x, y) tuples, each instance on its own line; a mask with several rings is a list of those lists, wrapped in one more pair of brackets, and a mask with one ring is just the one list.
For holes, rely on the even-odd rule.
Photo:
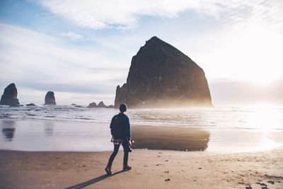
[(111, 134), (114, 139), (123, 139), (125, 136), (121, 115), (114, 115), (110, 124)]

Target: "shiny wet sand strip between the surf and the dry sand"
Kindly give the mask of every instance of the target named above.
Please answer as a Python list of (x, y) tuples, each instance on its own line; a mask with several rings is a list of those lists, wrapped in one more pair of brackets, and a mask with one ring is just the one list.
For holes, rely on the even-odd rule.
[[(110, 151), (109, 125), (88, 122), (0, 120), (0, 149)], [(282, 130), (132, 125), (133, 149), (241, 152), (282, 146)]]

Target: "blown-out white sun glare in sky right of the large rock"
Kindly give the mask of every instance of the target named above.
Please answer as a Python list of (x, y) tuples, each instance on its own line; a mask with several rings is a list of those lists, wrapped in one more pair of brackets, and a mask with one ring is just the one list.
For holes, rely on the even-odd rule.
[(231, 29), (221, 40), (218, 48), (207, 52), (206, 57), (200, 57), (201, 62), (208, 62), (204, 69), (209, 79), (236, 79), (257, 85), (282, 79), (281, 34), (250, 25)]

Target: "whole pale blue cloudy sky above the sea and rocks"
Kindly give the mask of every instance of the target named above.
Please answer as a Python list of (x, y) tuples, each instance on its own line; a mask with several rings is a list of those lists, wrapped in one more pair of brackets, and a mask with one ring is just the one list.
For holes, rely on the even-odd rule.
[(21, 104), (114, 103), (157, 36), (202, 69), (214, 105), (283, 104), (283, 1), (1, 0), (0, 93)]

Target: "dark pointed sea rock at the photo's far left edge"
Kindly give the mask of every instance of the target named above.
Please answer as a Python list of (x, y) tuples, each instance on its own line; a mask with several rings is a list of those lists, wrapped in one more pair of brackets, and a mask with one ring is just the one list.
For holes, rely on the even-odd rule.
[(18, 102), (18, 91), (15, 84), (9, 84), (5, 89), (4, 93), (1, 96), (0, 105), (11, 105), (11, 106), (19, 106)]

